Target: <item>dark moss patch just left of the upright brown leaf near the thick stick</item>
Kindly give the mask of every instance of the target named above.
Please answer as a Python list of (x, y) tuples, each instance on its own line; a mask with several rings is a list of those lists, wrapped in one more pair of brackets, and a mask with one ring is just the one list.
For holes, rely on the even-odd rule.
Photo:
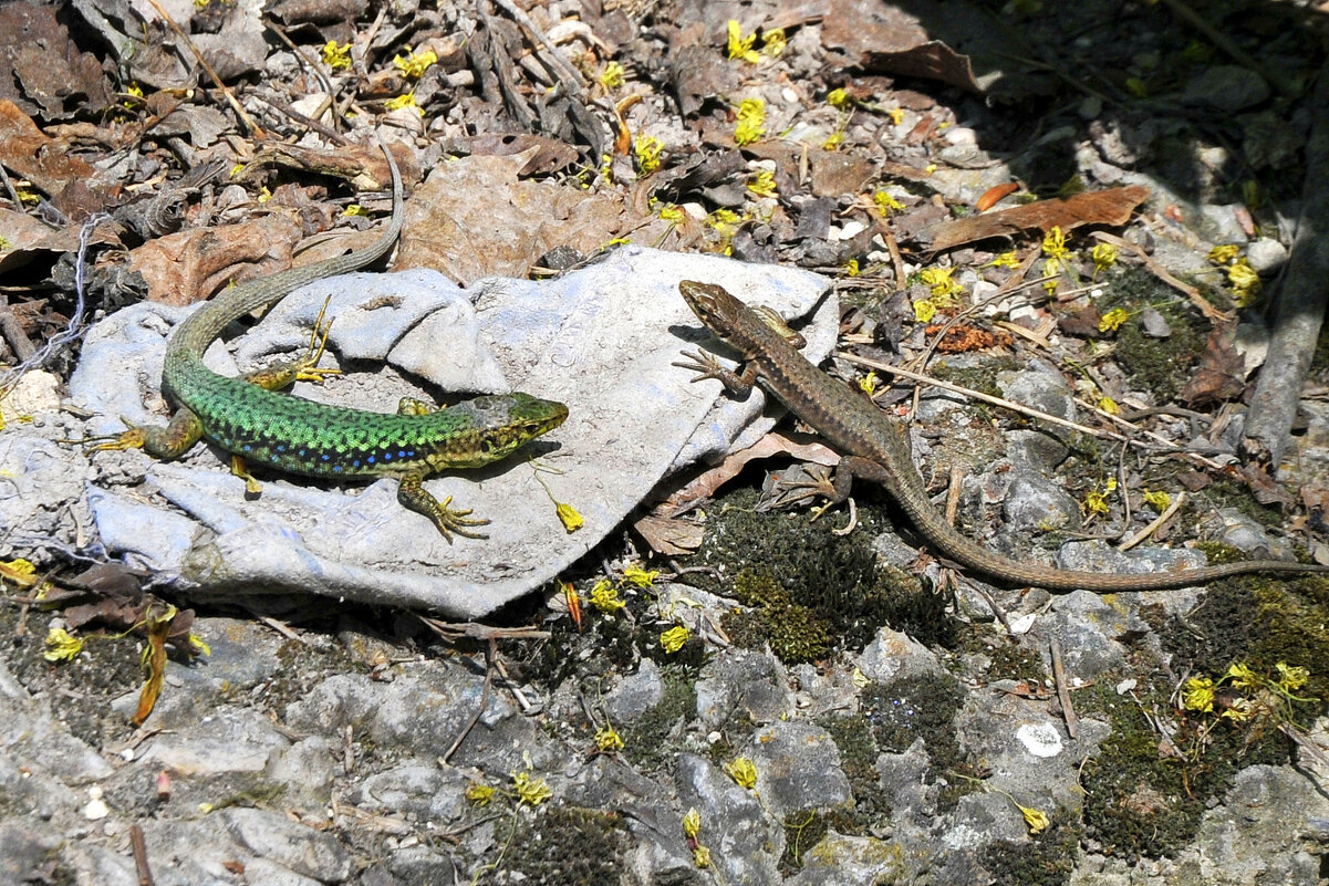
[[(1126, 369), (1131, 388), (1151, 392), (1160, 404), (1172, 401), (1204, 355), (1208, 323), (1144, 268), (1126, 267), (1110, 282), (1111, 295), (1099, 310), (1107, 313), (1122, 308), (1132, 315), (1116, 333), (1112, 359)], [(1167, 339), (1144, 335), (1136, 315), (1147, 307), (1163, 315), (1172, 335)]]

